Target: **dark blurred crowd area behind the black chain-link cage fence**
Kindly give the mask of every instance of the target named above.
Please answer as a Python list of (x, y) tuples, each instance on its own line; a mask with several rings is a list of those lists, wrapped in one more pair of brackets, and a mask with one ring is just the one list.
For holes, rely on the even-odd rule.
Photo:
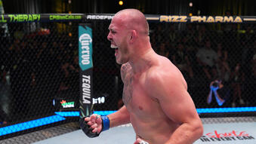
[[(0, 14), (115, 14), (137, 8), (144, 14), (255, 16), (255, 5), (252, 0), (0, 0)], [(94, 110), (117, 110), (122, 81), (106, 39), (110, 21), (88, 23)], [(79, 110), (78, 26), (77, 21), (0, 23), (0, 127)], [(150, 41), (184, 74), (197, 109), (254, 107), (255, 30), (254, 23), (150, 23)]]

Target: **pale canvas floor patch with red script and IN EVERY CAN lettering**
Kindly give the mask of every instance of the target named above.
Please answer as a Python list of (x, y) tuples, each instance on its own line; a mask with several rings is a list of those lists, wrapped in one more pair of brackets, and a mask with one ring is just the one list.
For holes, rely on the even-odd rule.
[(204, 134), (194, 144), (201, 143), (256, 143), (256, 122), (204, 124)]

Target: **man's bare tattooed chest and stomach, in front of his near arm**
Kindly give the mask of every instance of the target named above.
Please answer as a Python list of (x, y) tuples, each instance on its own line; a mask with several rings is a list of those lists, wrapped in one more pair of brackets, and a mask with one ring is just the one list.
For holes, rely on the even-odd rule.
[[(165, 115), (159, 101), (148, 93), (145, 81), (150, 70), (134, 74), (131, 65), (127, 65), (122, 99), (130, 112), (135, 133), (147, 142), (163, 143), (170, 138), (178, 124)], [(154, 72), (162, 69), (161, 65), (156, 67), (150, 69), (156, 69)]]

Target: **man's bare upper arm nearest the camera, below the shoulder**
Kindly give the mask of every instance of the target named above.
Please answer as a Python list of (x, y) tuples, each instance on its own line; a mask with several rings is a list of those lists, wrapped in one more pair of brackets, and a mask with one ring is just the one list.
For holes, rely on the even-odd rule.
[(182, 75), (174, 73), (171, 76), (161, 77), (151, 81), (149, 84), (152, 86), (149, 89), (153, 97), (159, 100), (165, 115), (177, 123), (184, 123), (190, 121), (190, 118), (196, 118), (198, 116), (196, 108), (187, 92), (187, 85), (184, 84)]

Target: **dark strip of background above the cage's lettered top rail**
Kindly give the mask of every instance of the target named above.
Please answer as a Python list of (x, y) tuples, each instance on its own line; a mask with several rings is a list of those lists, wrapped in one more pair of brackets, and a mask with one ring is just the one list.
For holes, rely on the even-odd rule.
[[(109, 13), (137, 8), (145, 14), (255, 15), (254, 0), (2, 0), (5, 14), (22, 13)], [(193, 7), (189, 3), (193, 2)]]

